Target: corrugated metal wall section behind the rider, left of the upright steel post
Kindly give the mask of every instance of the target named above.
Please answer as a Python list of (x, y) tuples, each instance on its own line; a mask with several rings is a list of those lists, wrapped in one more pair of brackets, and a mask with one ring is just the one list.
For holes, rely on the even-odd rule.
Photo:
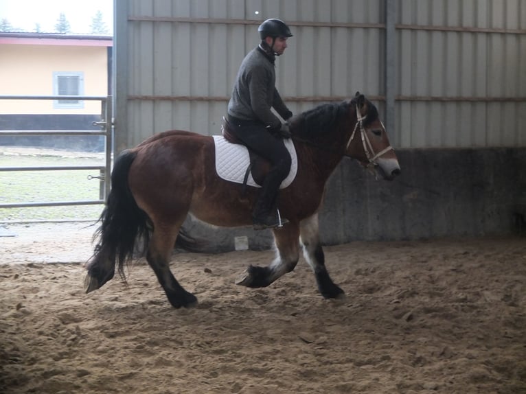
[(357, 90), (381, 98), (382, 4), (116, 0), (117, 151), (172, 128), (218, 134), (239, 65), (271, 17), (295, 35), (277, 60), (277, 86), (294, 113)]

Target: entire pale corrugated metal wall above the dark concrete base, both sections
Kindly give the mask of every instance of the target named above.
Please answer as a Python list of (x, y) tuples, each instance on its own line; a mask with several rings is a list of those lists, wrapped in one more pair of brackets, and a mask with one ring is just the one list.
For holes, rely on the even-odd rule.
[(295, 34), (277, 61), (293, 112), (359, 90), (398, 148), (526, 146), (526, 0), (115, 0), (115, 150), (218, 134), (269, 17)]

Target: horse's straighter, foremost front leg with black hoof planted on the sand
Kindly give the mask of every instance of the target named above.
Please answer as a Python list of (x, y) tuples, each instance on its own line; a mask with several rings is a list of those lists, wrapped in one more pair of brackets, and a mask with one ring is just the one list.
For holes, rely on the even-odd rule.
[(332, 279), (330, 279), (327, 268), (325, 268), (325, 255), (319, 242), (318, 213), (301, 220), (299, 224), (299, 240), (304, 251), (304, 257), (308, 265), (315, 273), (319, 292), (325, 298), (337, 298), (343, 294)]

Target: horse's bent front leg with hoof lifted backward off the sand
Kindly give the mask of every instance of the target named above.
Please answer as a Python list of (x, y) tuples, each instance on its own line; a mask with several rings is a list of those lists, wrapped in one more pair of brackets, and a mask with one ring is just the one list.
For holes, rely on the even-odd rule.
[(277, 252), (271, 265), (249, 266), (242, 277), (236, 281), (238, 285), (263, 288), (295, 268), (299, 259), (298, 224), (287, 223), (282, 229), (274, 229), (273, 233)]

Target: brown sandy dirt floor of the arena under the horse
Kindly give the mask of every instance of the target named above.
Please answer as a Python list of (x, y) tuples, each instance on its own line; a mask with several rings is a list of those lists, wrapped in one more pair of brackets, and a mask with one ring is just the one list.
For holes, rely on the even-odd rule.
[(272, 251), (179, 253), (175, 310), (144, 260), (84, 294), (85, 225), (0, 237), (0, 393), (526, 393), (524, 237), (325, 247), (336, 301), (303, 259), (253, 290)]

